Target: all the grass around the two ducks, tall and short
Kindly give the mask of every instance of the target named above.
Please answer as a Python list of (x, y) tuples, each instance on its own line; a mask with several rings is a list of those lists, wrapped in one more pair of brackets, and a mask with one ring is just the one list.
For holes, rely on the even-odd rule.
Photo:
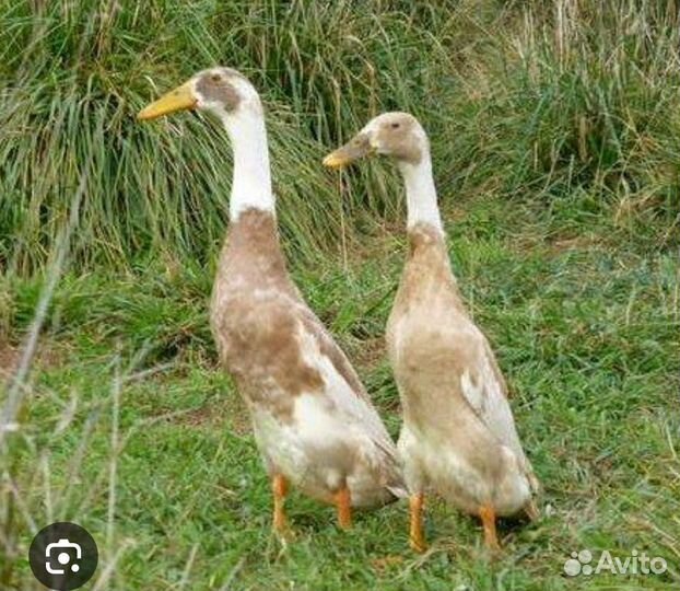
[[(31, 538), (63, 519), (99, 546), (84, 589), (680, 586), (678, 7), (412, 4), (0, 1), (0, 589), (39, 589)], [(403, 503), (341, 532), (292, 495), (295, 538), (270, 533), (207, 318), (230, 148), (200, 116), (133, 120), (213, 63), (262, 92), (292, 273), (395, 437), (399, 179), (320, 159), (380, 111), (430, 131), (454, 270), (544, 485), (495, 560), (435, 499), (422, 556)], [(586, 548), (668, 570), (566, 578)]]

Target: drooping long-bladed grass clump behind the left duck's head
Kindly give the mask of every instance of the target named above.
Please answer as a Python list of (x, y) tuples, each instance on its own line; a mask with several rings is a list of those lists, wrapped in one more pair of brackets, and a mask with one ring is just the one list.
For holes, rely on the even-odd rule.
[(0, 31), (0, 260), (20, 273), (44, 263), (84, 164), (78, 260), (201, 259), (213, 248), (226, 139), (198, 117), (142, 127), (133, 116), (215, 63), (242, 69), (265, 95), (290, 247), (303, 257), (337, 248), (341, 202), (318, 139), (355, 128), (384, 96), (412, 106), (426, 92), (413, 91), (418, 60), (437, 44), (387, 4), (352, 2), (15, 2)]

